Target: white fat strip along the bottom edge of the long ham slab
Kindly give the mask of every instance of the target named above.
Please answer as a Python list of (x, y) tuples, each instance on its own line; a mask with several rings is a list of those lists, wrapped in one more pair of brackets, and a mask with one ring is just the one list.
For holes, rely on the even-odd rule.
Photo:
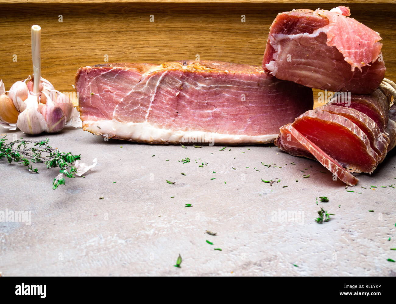
[[(181, 131), (162, 129), (153, 126), (149, 122), (120, 122), (118, 120), (84, 121), (84, 130), (97, 135), (107, 135), (110, 138), (122, 138), (133, 141), (145, 141), (155, 143), (184, 143), (200, 144), (257, 144), (272, 142), (278, 134), (266, 135), (239, 135), (220, 134), (204, 131)], [(199, 141), (194, 141), (199, 140)]]

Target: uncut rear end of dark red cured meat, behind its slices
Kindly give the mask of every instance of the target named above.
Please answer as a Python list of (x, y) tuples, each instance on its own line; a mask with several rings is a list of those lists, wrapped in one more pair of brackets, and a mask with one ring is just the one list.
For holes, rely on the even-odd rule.
[(345, 94), (338, 94), (330, 102), (333, 105), (350, 107), (366, 114), (377, 123), (381, 132), (385, 132), (390, 100), (390, 94), (377, 89), (370, 95), (351, 95), (350, 98)]

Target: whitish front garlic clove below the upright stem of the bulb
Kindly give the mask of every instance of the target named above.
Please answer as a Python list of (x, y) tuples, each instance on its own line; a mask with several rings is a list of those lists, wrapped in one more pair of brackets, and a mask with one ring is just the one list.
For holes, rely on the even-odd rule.
[[(19, 98), (19, 97), (18, 97)], [(20, 100), (20, 98), (19, 98)], [(26, 134), (40, 134), (47, 130), (47, 123), (43, 115), (38, 112), (37, 98), (34, 95), (28, 96), (25, 100), (26, 109), (18, 116), (17, 127)]]

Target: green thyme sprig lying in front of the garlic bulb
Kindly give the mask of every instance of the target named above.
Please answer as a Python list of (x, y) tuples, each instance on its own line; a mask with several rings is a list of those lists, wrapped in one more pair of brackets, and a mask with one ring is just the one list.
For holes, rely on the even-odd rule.
[(27, 166), (29, 172), (38, 173), (38, 168), (32, 164), (45, 163), (47, 168), (59, 167), (59, 175), (54, 178), (52, 189), (65, 184), (63, 175), (73, 178), (77, 168), (73, 166), (75, 161), (81, 159), (80, 155), (64, 153), (48, 145), (46, 140), (14, 140), (6, 143), (6, 136), (0, 138), (0, 159), (7, 159), (8, 163), (18, 163)]

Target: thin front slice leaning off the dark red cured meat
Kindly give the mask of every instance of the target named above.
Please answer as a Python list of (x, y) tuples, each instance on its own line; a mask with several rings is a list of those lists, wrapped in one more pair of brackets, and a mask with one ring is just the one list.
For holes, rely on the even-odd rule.
[(350, 186), (356, 185), (358, 179), (353, 176), (348, 170), (343, 168), (337, 161), (327, 155), (325, 151), (320, 149), (315, 143), (310, 141), (301, 132), (297, 131), (292, 124), (283, 127), (289, 134), (291, 134), (291, 141), (297, 141), (307, 149), (323, 166), (330, 170), (333, 174), (342, 180), (345, 184)]

